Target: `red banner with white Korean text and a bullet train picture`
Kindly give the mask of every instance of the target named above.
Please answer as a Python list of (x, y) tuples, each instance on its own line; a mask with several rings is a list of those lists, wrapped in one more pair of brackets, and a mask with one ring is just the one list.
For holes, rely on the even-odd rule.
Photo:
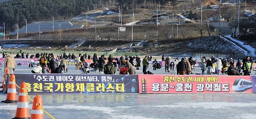
[(252, 93), (250, 76), (138, 75), (139, 93)]

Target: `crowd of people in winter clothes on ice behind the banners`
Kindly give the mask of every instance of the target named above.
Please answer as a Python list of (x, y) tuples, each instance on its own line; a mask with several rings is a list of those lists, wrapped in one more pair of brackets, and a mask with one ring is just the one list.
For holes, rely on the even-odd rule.
[[(33, 67), (34, 61), (31, 59), (29, 67), (33, 67), (32, 73), (45, 73), (45, 68), (47, 72), (49, 73), (63, 73), (68, 72), (68, 62), (66, 59), (79, 59), (79, 62), (76, 64), (76, 69), (81, 70), (82, 74), (87, 74), (91, 70), (89, 68), (93, 68), (94, 72), (99, 71), (100, 74), (115, 74), (116, 70), (119, 70), (121, 67), (126, 67), (127, 72), (125, 74), (136, 74), (136, 70), (140, 70), (141, 66), (141, 59), (139, 56), (121, 56), (114, 58), (112, 55), (109, 55), (108, 57), (105, 57), (105, 55), (101, 55), (99, 58), (97, 54), (93, 54), (93, 56), (86, 54), (79, 54), (78, 57), (76, 57), (74, 54), (58, 54), (55, 58), (53, 53), (37, 53), (35, 55), (29, 56), (28, 53), (26, 53), (26, 57), (24, 56), (25, 53), (21, 53), (21, 56), (19, 53), (16, 54), (15, 57), (13, 57), (12, 54), (5, 54), (3, 53), (3, 57), (10, 59), (10, 58), (38, 58), (39, 63), (37, 66)], [(89, 64), (86, 62), (86, 59), (91, 59), (93, 63)], [(135, 61), (135, 63), (134, 63)], [(142, 59), (142, 73), (143, 74), (153, 74), (152, 72), (148, 71), (149, 68), (149, 61), (152, 61), (152, 56), (145, 56)], [(171, 59), (170, 56), (166, 57), (162, 56), (162, 63), (164, 63), (165, 66), (165, 72), (174, 71), (174, 67), (176, 65), (177, 74), (178, 75), (190, 75), (194, 70), (194, 67), (196, 65), (196, 61), (193, 59), (193, 57), (187, 58), (186, 56), (181, 58), (181, 61), (179, 61), (177, 64), (175, 64), (177, 61), (179, 61), (178, 58)], [(156, 59), (152, 61), (153, 71), (156, 71), (157, 69), (160, 69), (162, 64), (159, 63)], [(253, 60), (249, 56), (242, 59), (242, 61), (237, 58), (237, 61), (235, 63), (235, 60), (232, 58), (218, 58), (215, 59), (214, 56), (211, 58), (201, 58), (202, 65), (200, 65), (202, 70), (202, 75), (205, 75), (207, 72), (207, 75), (211, 74), (228, 74), (228, 75), (250, 75), (252, 70), (252, 63)], [(13, 64), (12, 64), (13, 65)], [(15, 69), (15, 65), (11, 66), (13, 69)], [(135, 70), (136, 69), (136, 70)], [(120, 74), (123, 74), (122, 72)]]

